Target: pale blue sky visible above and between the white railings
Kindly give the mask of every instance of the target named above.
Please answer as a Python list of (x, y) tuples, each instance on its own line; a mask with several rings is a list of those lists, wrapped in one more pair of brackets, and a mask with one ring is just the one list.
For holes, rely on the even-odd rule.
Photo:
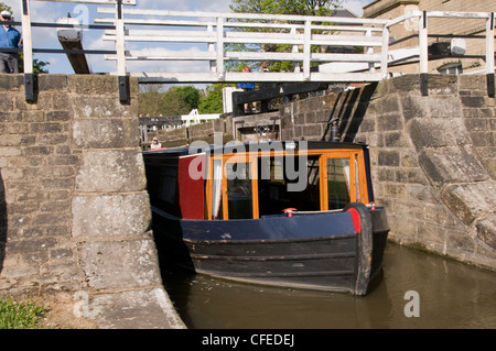
[[(79, 19), (83, 24), (94, 24), (94, 18), (110, 18), (110, 14), (98, 13), (97, 8), (110, 7), (103, 4), (90, 3), (74, 3), (74, 2), (58, 2), (31, 0), (31, 17), (32, 22), (48, 22), (56, 23), (60, 18), (66, 18), (71, 13), (72, 18)], [(21, 0), (0, 0), (12, 8), (15, 21), (21, 21)], [(138, 9), (151, 10), (171, 10), (171, 11), (203, 11), (203, 12), (231, 12), (229, 6), (231, 0), (136, 0)], [(343, 8), (351, 10), (358, 17), (363, 14), (362, 8), (373, 0), (344, 0)], [(21, 26), (17, 29), (21, 31)], [(115, 50), (114, 42), (103, 40), (103, 31), (84, 30), (83, 31), (83, 46), (85, 50)], [(34, 48), (62, 48), (56, 29), (41, 29), (32, 28), (33, 47)], [(145, 44), (149, 46), (138, 46), (138, 43), (127, 43), (127, 50), (157, 51), (153, 44)], [(198, 44), (205, 46), (205, 44)], [(163, 47), (159, 50), (164, 50)], [(174, 48), (177, 50), (177, 48)], [(190, 47), (180, 50), (205, 50), (203, 47)], [(65, 54), (34, 54), (34, 58), (43, 62), (48, 62), (50, 65), (45, 68), (51, 74), (74, 74), (74, 70), (65, 56)], [(87, 55), (90, 70), (93, 73), (112, 73), (116, 72), (116, 63), (106, 61), (103, 55)], [(207, 63), (201, 62), (128, 62), (128, 72), (205, 72), (208, 69)], [(187, 67), (186, 67), (187, 66)]]

